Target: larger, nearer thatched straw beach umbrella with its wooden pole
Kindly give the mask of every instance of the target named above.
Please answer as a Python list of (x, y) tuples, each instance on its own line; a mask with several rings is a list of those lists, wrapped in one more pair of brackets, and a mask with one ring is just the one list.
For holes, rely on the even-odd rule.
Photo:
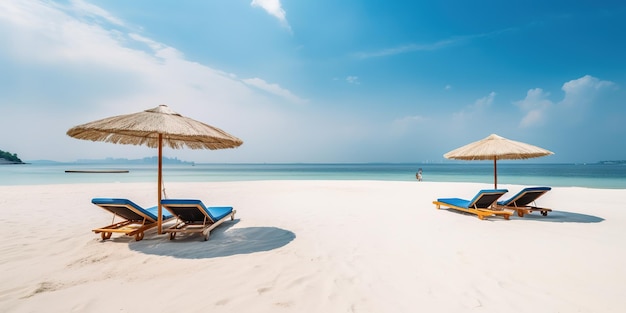
[(119, 115), (70, 128), (67, 135), (77, 139), (105, 141), (158, 148), (158, 231), (161, 233), (161, 185), (163, 145), (173, 149), (227, 149), (243, 144), (241, 139), (223, 130), (184, 117), (167, 105), (143, 112)]

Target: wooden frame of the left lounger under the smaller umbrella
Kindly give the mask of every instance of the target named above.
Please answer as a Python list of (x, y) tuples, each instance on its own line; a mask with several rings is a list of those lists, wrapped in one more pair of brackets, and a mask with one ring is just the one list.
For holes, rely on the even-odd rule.
[[(504, 211), (501, 209), (493, 208), (492, 206), (498, 200), (498, 198), (500, 198), (506, 192), (507, 191), (504, 189), (500, 191), (481, 190), (479, 194), (477, 194), (471, 200), (471, 203), (472, 203), (471, 207), (462, 207), (462, 206), (457, 206), (451, 203), (439, 201), (441, 199), (433, 201), (433, 204), (436, 206), (437, 210), (439, 210), (441, 207), (447, 207), (450, 209), (475, 214), (476, 216), (478, 216), (478, 219), (480, 220), (483, 220), (486, 217), (494, 216), (494, 215), (502, 216), (505, 220), (508, 220), (510, 216), (513, 215), (513, 213), (509, 211)], [(463, 200), (463, 199), (460, 199), (460, 200)]]

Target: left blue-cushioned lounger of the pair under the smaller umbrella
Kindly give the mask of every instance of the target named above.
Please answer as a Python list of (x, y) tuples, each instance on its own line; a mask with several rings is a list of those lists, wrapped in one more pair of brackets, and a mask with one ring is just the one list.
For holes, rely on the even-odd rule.
[(439, 198), (437, 201), (433, 201), (433, 204), (437, 206), (437, 209), (447, 207), (454, 210), (476, 214), (481, 220), (485, 217), (493, 215), (502, 216), (508, 220), (513, 213), (494, 208), (494, 204), (498, 198), (507, 192), (508, 190), (506, 189), (485, 189), (479, 191), (478, 194), (476, 194), (476, 196), (471, 200), (460, 198)]

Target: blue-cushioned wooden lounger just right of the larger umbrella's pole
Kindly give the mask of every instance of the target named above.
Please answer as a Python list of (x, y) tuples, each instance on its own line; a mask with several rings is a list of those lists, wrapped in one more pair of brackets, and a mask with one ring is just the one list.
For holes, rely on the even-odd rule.
[(161, 205), (177, 219), (176, 224), (164, 229), (170, 234), (170, 240), (177, 233), (202, 233), (204, 240), (209, 240), (209, 233), (228, 217), (235, 218), (237, 211), (232, 207), (206, 207), (200, 200), (163, 199)]

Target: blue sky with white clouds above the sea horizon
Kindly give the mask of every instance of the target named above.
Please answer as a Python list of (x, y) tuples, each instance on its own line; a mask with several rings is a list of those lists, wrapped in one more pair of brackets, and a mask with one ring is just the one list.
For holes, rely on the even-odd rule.
[(143, 158), (73, 126), (167, 104), (243, 140), (196, 163), (447, 162), (490, 134), (626, 160), (626, 2), (0, 1), (0, 150)]

